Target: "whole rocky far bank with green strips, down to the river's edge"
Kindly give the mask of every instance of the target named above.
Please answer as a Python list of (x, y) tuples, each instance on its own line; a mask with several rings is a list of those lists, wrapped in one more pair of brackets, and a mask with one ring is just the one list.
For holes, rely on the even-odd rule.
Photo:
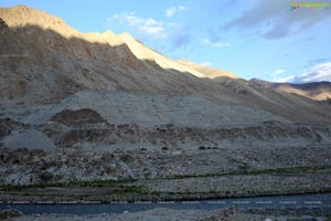
[(9, 186), (0, 196), (4, 201), (111, 201), (328, 192), (330, 151), (328, 146), (66, 154), (2, 149), (0, 179)]

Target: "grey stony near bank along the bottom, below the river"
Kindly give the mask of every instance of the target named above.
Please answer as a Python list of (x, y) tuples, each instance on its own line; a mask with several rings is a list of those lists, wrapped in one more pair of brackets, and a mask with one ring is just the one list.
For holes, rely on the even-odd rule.
[[(20, 215), (20, 214), (17, 214)], [(122, 214), (66, 215), (38, 214), (22, 215), (8, 219), (11, 221), (327, 221), (322, 215), (273, 215), (239, 212), (235, 208), (213, 211), (153, 209), (143, 212), (124, 212)]]

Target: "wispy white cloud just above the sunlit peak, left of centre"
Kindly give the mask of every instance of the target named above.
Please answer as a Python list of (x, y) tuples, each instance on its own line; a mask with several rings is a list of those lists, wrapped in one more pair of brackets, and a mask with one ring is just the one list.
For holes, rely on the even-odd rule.
[(114, 17), (108, 19), (109, 22), (114, 20), (119, 21), (120, 23), (128, 24), (143, 35), (149, 35), (157, 39), (168, 38), (164, 29), (164, 23), (162, 21), (157, 21), (151, 18), (141, 18), (138, 17), (135, 12), (122, 12), (120, 14), (115, 14)]

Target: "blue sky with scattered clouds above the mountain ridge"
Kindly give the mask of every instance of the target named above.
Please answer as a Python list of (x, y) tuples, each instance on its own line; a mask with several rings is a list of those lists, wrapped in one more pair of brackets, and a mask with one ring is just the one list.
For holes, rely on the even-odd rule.
[(331, 81), (331, 9), (290, 10), (290, 2), (1, 0), (0, 7), (36, 8), (82, 32), (128, 32), (172, 59), (246, 80)]

